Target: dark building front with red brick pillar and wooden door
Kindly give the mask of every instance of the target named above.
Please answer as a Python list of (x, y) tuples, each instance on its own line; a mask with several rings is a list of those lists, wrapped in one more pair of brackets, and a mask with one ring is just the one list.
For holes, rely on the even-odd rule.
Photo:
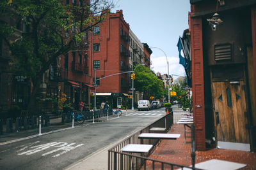
[(205, 150), (205, 139), (211, 140), (216, 148), (253, 150), (256, 1), (190, 3), (196, 150)]

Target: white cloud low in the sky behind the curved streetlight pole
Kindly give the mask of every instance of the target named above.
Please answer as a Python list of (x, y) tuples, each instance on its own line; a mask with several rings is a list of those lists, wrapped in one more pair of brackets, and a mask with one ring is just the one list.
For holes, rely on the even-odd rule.
[[(179, 57), (167, 57), (169, 62), (169, 74), (176, 74), (180, 76), (184, 76), (184, 67), (179, 64)], [(168, 66), (166, 62), (166, 57), (154, 57), (154, 55), (150, 56), (150, 60), (152, 65), (150, 68), (155, 73), (167, 74)], [(173, 76), (175, 78), (175, 76)]]

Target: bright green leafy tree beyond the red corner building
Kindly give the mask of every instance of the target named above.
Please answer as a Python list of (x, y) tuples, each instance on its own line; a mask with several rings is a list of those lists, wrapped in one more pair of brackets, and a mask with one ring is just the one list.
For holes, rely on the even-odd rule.
[(159, 80), (156, 74), (148, 67), (137, 67), (134, 87), (140, 92), (150, 92), (150, 95), (154, 93), (156, 99), (163, 97), (163, 81)]

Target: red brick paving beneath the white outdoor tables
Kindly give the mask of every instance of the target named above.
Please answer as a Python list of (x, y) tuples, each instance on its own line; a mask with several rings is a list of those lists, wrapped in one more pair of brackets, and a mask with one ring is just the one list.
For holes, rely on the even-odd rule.
[[(188, 143), (184, 143), (184, 126), (174, 124), (168, 133), (180, 134), (177, 140), (162, 140), (160, 145), (150, 155), (151, 159), (172, 162), (184, 166), (191, 166), (191, 133), (186, 127), (186, 139)], [(205, 160), (220, 159), (246, 164), (244, 169), (256, 169), (256, 153), (243, 152), (237, 150), (209, 149), (204, 152), (196, 152), (196, 163), (204, 162)]]

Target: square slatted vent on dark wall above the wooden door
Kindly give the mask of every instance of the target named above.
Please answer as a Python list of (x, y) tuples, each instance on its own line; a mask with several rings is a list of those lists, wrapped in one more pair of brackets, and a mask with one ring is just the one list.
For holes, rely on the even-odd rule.
[(231, 60), (231, 44), (215, 45), (214, 59), (216, 61)]

